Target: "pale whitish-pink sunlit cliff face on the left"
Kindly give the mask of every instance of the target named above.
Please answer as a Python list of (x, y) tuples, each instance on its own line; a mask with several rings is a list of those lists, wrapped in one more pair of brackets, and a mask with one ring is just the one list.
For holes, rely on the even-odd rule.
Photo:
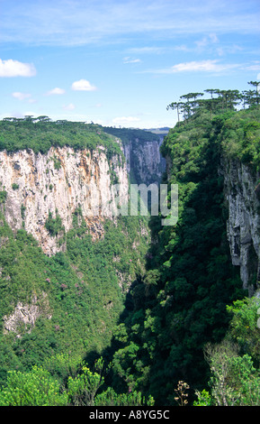
[(47, 154), (0, 152), (0, 191), (6, 192), (4, 217), (14, 231), (23, 227), (33, 235), (47, 254), (64, 248), (57, 235), (49, 234), (49, 217), (60, 217), (67, 232), (80, 207), (93, 237), (103, 234), (103, 218), (112, 219), (117, 207), (118, 196), (112, 189), (115, 179), (121, 187), (121, 202), (127, 202), (126, 164), (119, 155), (108, 161), (103, 146), (95, 151), (52, 147)]

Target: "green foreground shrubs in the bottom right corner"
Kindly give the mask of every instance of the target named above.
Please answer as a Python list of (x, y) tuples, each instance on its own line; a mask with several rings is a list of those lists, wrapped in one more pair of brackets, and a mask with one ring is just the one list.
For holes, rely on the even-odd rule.
[(211, 378), (207, 389), (196, 392), (194, 406), (260, 405), (259, 307), (257, 297), (228, 307), (232, 319), (227, 336), (204, 348)]

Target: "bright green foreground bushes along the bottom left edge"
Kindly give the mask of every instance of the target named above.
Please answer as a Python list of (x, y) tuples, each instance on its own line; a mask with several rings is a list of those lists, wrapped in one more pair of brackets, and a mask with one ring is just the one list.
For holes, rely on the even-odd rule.
[[(53, 358), (53, 364), (66, 368), (67, 355)], [(52, 373), (55, 371), (52, 369)], [(105, 387), (103, 359), (100, 358), (90, 370), (82, 364), (75, 376), (63, 375), (59, 383), (47, 369), (34, 365), (31, 371), (9, 371), (5, 386), (0, 390), (0, 406), (142, 406), (153, 405), (140, 392), (117, 393), (112, 387)]]

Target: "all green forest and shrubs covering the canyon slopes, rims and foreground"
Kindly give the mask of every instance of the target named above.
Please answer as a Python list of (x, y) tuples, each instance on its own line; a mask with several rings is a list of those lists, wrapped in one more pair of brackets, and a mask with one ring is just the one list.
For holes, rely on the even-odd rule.
[[(66, 252), (48, 257), (24, 229), (13, 233), (0, 191), (2, 319), (33, 296), (45, 311), (19, 336), (1, 332), (0, 406), (260, 404), (260, 300), (248, 297), (230, 260), (219, 172), (221, 158), (235, 158), (260, 182), (260, 82), (248, 84), (167, 106), (178, 118), (161, 146), (170, 161), (162, 182), (178, 185), (175, 226), (161, 226), (160, 216), (118, 217), (93, 242), (78, 209)], [(103, 145), (108, 157), (121, 154), (108, 132), (10, 117), (0, 122), (0, 149)], [(119, 271), (130, 276), (123, 290)]]

